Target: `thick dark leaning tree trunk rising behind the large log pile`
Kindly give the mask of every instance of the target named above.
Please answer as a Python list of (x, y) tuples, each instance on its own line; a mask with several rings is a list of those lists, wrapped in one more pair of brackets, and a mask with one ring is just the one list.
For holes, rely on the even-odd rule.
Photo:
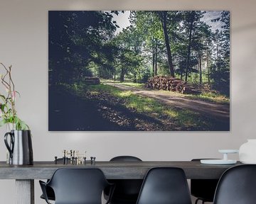
[(167, 31), (167, 11), (160, 11), (161, 12), (161, 24), (164, 30), (164, 40), (166, 42), (166, 51), (167, 51), (167, 57), (168, 57), (168, 66), (170, 69), (171, 77), (175, 77), (174, 75), (174, 64), (172, 62), (172, 56), (171, 56), (171, 47), (169, 42), (169, 35)]

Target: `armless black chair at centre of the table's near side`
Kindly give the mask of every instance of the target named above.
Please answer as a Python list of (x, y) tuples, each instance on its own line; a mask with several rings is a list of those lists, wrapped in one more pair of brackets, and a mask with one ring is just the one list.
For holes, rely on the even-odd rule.
[(137, 204), (191, 204), (183, 169), (156, 167), (146, 174)]

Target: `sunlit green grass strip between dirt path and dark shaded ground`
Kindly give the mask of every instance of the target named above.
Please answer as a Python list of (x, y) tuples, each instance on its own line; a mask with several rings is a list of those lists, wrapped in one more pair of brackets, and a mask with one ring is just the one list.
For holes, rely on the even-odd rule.
[(110, 85), (92, 85), (88, 87), (87, 91), (91, 93), (106, 92), (114, 97), (124, 99), (122, 104), (126, 108), (143, 113), (156, 118), (169, 118), (174, 121), (179, 127), (210, 127), (210, 121), (206, 120), (202, 115), (181, 108), (174, 108), (167, 106), (166, 104), (156, 101), (154, 98), (145, 96), (138, 96), (133, 94), (132, 91), (122, 91), (114, 86)]

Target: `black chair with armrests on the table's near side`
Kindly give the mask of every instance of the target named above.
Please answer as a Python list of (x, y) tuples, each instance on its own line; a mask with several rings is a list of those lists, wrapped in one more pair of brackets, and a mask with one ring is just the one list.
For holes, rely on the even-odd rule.
[(50, 181), (39, 183), (46, 203), (50, 203), (46, 186), (53, 188), (55, 204), (101, 204), (103, 190), (111, 186), (100, 169), (57, 169)]

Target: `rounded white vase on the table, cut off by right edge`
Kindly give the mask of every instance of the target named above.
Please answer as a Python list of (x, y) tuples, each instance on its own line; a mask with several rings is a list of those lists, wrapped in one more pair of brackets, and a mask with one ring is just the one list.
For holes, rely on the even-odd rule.
[(256, 139), (247, 140), (240, 146), (239, 160), (243, 164), (256, 164)]

